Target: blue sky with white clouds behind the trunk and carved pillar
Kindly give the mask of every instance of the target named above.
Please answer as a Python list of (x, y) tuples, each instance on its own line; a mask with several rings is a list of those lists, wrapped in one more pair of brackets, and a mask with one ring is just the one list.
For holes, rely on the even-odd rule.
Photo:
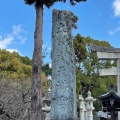
[[(56, 3), (50, 9), (44, 6), (43, 49), (47, 48), (45, 62), (50, 62), (52, 10), (70, 10), (79, 21), (73, 30), (84, 37), (106, 40), (120, 48), (120, 0), (87, 0), (71, 6)], [(0, 3), (0, 48), (18, 51), (32, 58), (35, 28), (34, 6), (24, 4), (24, 0), (2, 0)]]

